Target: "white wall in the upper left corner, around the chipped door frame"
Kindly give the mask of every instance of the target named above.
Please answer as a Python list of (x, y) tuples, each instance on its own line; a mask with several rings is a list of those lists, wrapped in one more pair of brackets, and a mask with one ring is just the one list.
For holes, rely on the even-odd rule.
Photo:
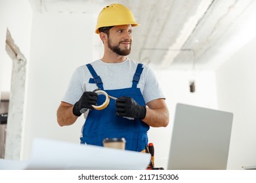
[[(5, 51), (7, 28), (22, 54), (26, 59), (29, 59), (32, 9), (28, 1), (1, 0), (0, 22), (0, 91), (9, 92), (11, 88), (11, 73), (7, 73), (7, 71), (11, 71), (12, 63), (10, 63), (11, 59)], [(5, 82), (7, 80), (9, 83)]]

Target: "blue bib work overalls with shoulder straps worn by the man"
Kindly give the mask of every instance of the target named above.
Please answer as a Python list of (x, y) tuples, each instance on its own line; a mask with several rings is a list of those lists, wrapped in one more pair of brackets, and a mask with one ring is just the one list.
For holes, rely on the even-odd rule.
[[(89, 80), (90, 83), (95, 83), (100, 90), (104, 90), (102, 80), (93, 69), (91, 64), (87, 67), (93, 76)], [(108, 95), (113, 97), (132, 97), (139, 103), (145, 106), (144, 98), (137, 88), (142, 73), (142, 64), (139, 63), (133, 76), (133, 83), (131, 88), (104, 90)], [(106, 97), (98, 95), (98, 104), (102, 104)], [(142, 120), (129, 120), (121, 116), (116, 116), (116, 104), (114, 99), (110, 99), (108, 107), (102, 110), (91, 110), (83, 125), (83, 137), (81, 143), (92, 144), (96, 146), (103, 146), (103, 139), (105, 138), (125, 138), (125, 150), (142, 151), (148, 144), (147, 131), (150, 127), (142, 122)]]

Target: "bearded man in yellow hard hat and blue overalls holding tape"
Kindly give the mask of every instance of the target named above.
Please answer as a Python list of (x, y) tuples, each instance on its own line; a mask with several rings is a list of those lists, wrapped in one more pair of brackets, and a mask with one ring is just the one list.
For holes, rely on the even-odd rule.
[[(148, 144), (150, 126), (169, 123), (152, 69), (126, 57), (131, 52), (132, 27), (137, 25), (133, 13), (120, 4), (104, 7), (98, 15), (95, 32), (104, 44), (104, 56), (75, 70), (57, 111), (60, 126), (74, 124), (85, 112), (81, 143), (102, 146), (105, 138), (125, 138), (126, 150), (140, 152)], [(96, 90), (117, 99), (95, 110), (105, 100)]]

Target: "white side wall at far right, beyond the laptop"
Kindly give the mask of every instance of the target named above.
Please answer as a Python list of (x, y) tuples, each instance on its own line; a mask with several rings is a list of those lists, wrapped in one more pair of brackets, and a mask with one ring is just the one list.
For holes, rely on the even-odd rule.
[(234, 113), (228, 169), (256, 165), (256, 39), (217, 70), (219, 108)]

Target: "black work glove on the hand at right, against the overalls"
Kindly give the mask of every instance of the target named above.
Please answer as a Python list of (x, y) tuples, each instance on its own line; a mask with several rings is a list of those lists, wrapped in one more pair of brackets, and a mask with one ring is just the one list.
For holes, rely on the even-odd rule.
[(119, 97), (116, 99), (116, 115), (142, 120), (146, 117), (146, 107), (131, 97)]

